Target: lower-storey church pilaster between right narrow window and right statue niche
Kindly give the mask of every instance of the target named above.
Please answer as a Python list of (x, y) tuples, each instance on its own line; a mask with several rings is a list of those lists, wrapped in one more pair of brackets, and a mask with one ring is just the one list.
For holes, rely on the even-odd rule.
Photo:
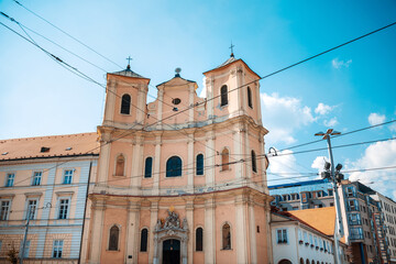
[(215, 199), (205, 201), (204, 252), (205, 263), (216, 263), (216, 216)]

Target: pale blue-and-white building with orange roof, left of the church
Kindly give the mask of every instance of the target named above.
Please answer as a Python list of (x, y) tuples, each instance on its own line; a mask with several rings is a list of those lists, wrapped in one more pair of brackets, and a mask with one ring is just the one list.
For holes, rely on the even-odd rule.
[(0, 154), (0, 262), (21, 256), (29, 221), (25, 263), (78, 263), (97, 134), (3, 140)]

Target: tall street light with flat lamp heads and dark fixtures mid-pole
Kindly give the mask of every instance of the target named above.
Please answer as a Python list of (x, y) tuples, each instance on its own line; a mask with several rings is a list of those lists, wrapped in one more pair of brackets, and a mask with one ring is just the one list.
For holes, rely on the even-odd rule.
[(330, 180), (332, 182), (332, 186), (333, 186), (333, 193), (334, 193), (334, 204), (336, 204), (336, 232), (334, 232), (334, 248), (336, 248), (336, 263), (337, 264), (341, 264), (341, 255), (340, 255), (340, 239), (343, 237), (343, 230), (342, 230), (342, 217), (341, 217), (341, 207), (340, 207), (340, 198), (337, 191), (337, 182), (339, 182), (341, 178), (343, 178), (343, 175), (340, 173), (342, 165), (338, 164), (337, 165), (337, 172), (334, 170), (334, 162), (333, 162), (333, 157), (332, 157), (332, 151), (331, 151), (331, 135), (339, 135), (341, 134), (341, 132), (334, 131), (333, 129), (328, 129), (326, 131), (326, 133), (323, 132), (318, 132), (315, 135), (317, 136), (322, 136), (323, 140), (327, 140), (328, 143), (328, 150), (329, 150), (329, 156), (330, 156), (330, 166), (328, 163), (324, 164), (324, 168), (327, 168), (327, 170), (329, 170), (329, 168), (331, 168), (330, 170), (330, 177), (329, 177), (329, 173), (324, 173), (322, 175), (322, 177), (329, 177)]

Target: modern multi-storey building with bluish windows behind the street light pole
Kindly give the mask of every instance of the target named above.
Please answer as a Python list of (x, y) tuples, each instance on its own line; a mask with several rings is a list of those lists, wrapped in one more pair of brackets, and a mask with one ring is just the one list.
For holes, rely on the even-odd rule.
[[(338, 188), (345, 243), (350, 245), (352, 261), (356, 263), (380, 263), (382, 257), (377, 246), (377, 229), (374, 213), (378, 212), (377, 202), (371, 198), (372, 189), (359, 182), (343, 180)], [(301, 210), (334, 206), (332, 184), (327, 179), (271, 186), (273, 205), (282, 210)]]

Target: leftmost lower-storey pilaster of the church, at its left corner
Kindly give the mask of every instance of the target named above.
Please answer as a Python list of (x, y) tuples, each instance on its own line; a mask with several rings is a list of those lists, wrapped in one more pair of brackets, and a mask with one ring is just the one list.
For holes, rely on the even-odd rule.
[[(94, 200), (92, 201), (92, 237), (91, 237), (91, 250), (90, 250), (90, 261), (89, 263), (97, 264), (100, 263), (101, 256), (101, 245), (102, 245), (102, 231), (103, 231), (103, 219), (105, 219), (105, 200)], [(106, 249), (105, 249), (106, 250)]]

